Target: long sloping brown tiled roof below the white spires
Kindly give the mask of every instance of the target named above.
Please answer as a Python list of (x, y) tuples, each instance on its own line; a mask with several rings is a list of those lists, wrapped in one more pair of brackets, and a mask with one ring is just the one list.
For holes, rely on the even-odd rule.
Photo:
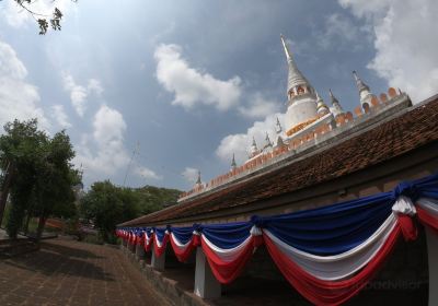
[(163, 223), (247, 205), (361, 170), (435, 141), (438, 141), (438, 95), (318, 154), (123, 225)]

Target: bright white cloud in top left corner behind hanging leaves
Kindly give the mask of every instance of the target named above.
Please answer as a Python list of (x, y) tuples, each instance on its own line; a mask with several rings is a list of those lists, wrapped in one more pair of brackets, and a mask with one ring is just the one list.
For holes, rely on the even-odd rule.
[[(8, 22), (9, 25), (13, 27), (22, 27), (27, 25), (28, 23), (33, 23), (37, 28), (36, 21), (32, 17), (27, 11), (21, 8), (15, 1), (8, 0), (3, 1), (4, 8), (1, 11), (1, 14), (4, 16), (4, 20)], [(24, 1), (25, 2), (25, 1)], [(32, 1), (32, 4), (24, 3), (28, 9), (33, 12), (46, 15), (50, 17), (54, 13), (55, 8), (58, 8), (65, 19), (65, 15), (68, 11), (70, 11), (71, 7), (74, 5), (73, 1), (53, 1), (53, 0), (38, 0)]]

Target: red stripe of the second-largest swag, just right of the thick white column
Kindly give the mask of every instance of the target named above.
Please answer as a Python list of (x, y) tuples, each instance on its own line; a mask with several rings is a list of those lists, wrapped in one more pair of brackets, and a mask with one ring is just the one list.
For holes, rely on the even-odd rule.
[[(254, 237), (252, 237), (254, 239)], [(208, 263), (210, 264), (211, 271), (216, 279), (222, 284), (229, 284), (235, 280), (245, 268), (247, 261), (251, 259), (254, 251), (254, 242), (250, 242), (247, 246), (242, 250), (241, 255), (230, 262), (222, 261), (212, 249), (200, 239), (204, 254), (207, 257)]]

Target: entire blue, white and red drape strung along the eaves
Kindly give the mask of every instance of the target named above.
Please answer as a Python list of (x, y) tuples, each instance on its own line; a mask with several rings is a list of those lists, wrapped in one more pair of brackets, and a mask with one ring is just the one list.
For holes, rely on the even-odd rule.
[(438, 235), (438, 175), (320, 209), (227, 224), (118, 228), (117, 235), (130, 244), (140, 239), (147, 251), (153, 243), (155, 256), (170, 240), (180, 261), (199, 246), (221, 283), (238, 278), (264, 245), (306, 298), (316, 305), (338, 305), (366, 286), (400, 237), (416, 239), (418, 223)]

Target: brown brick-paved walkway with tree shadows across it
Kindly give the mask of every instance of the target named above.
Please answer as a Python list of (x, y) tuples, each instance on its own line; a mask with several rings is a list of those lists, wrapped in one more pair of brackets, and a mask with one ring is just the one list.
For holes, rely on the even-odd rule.
[(118, 249), (54, 239), (0, 259), (0, 305), (170, 305)]

